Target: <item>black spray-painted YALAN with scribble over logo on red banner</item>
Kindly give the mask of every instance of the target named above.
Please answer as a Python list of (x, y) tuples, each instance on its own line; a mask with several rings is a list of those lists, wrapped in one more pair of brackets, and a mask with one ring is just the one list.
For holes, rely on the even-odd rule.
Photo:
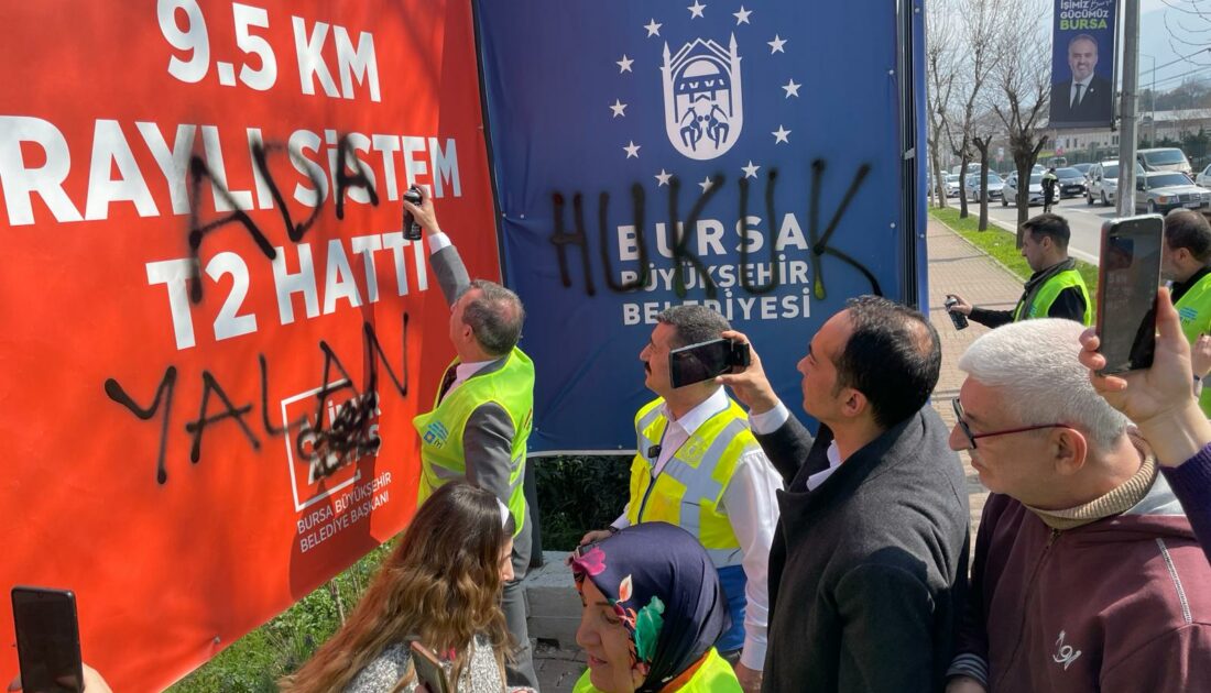
[[(408, 313), (403, 314), (402, 343), (402, 368), (397, 375), (395, 369), (391, 368), (390, 359), (383, 351), (374, 327), (369, 322), (362, 324), (362, 356), (368, 364), (368, 374), (365, 387), (358, 389), (337, 353), (327, 342), (321, 340), (318, 348), (323, 352), (323, 374), (320, 380), (322, 385), (315, 393), (315, 415), (310, 418), (303, 415), (294, 421), (283, 422), (281, 427), (269, 421), (269, 364), (265, 356), (260, 354), (258, 357), (260, 366), (260, 411), (265, 434), (277, 437), (294, 432), (293, 445), (295, 452), (300, 460), (309, 461), (317, 477), (331, 475), (337, 469), (356, 462), (366, 455), (373, 455), (378, 451), (380, 444), (378, 435), (372, 433), (371, 427), (371, 420), (378, 414), (378, 369), (380, 363), (386, 370), (396, 393), (401, 398), (408, 397)], [(333, 368), (342, 375), (342, 380), (335, 382), (329, 381)], [(166, 450), (177, 377), (177, 366), (170, 365), (165, 369), (163, 379), (160, 380), (155, 397), (148, 406), (140, 406), (116, 379), (110, 377), (105, 380), (105, 394), (111, 400), (125, 406), (136, 417), (150, 421), (156, 415), (160, 415), (160, 450), (156, 455), (156, 481), (160, 484), (168, 481)], [(219, 385), (218, 379), (210, 371), (202, 371), (201, 379), (202, 395), (197, 418), (186, 421), (184, 425), (185, 433), (193, 438), (189, 461), (196, 464), (201, 460), (202, 439), (207, 428), (218, 426), (226, 420), (235, 420), (252, 450), (259, 451), (260, 440), (245, 418), (252, 412), (252, 403), (236, 406), (231, 402), (231, 398), (228, 397), (223, 386)], [(349, 402), (340, 408), (335, 418), (325, 426), (325, 403), (334, 394), (346, 389), (351, 393)], [(223, 405), (217, 414), (212, 414), (212, 393)]]

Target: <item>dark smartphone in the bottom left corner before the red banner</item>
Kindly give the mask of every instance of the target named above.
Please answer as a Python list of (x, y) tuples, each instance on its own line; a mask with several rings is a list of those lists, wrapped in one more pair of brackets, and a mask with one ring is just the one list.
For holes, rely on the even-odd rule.
[(12, 588), (17, 659), (25, 693), (80, 693), (80, 629), (75, 595), (64, 589)]

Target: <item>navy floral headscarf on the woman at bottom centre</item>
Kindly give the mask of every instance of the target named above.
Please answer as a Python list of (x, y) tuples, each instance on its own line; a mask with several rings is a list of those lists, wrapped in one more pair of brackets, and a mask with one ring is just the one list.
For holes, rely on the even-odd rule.
[(639, 693), (664, 688), (731, 625), (718, 571), (681, 527), (627, 527), (582, 547), (570, 565), (576, 589), (591, 579), (630, 633), (632, 665), (645, 672)]

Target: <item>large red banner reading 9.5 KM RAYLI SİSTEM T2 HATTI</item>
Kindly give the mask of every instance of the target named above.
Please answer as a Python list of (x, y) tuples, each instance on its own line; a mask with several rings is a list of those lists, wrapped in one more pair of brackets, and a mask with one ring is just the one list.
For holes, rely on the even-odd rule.
[(414, 509), (452, 347), (407, 186), (499, 276), (470, 4), (0, 23), (0, 582), (75, 590), (85, 659), (160, 688)]

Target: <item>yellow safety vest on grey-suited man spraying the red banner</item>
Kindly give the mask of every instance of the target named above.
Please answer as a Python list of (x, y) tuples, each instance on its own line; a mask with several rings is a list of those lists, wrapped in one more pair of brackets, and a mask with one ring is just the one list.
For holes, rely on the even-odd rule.
[[(455, 368), (458, 362), (446, 369)], [(489, 366), (490, 368), (490, 366)], [(466, 478), (463, 434), (476, 408), (484, 403), (499, 404), (513, 425), (509, 463), (509, 497), (503, 498), (513, 515), (516, 530), (526, 526), (526, 495), (522, 480), (526, 472), (526, 441), (534, 415), (534, 364), (520, 348), (513, 347), (505, 363), (497, 370), (476, 374), (442, 398), (438, 392), (434, 409), (412, 420), (420, 435), (420, 483), (417, 503), (424, 503), (437, 487)]]

